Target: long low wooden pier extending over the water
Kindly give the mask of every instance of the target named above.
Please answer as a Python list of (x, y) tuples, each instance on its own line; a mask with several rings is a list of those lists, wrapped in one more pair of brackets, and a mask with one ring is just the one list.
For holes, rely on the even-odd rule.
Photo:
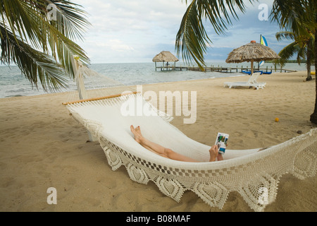
[[(161, 71), (201, 71), (201, 69), (198, 66), (156, 66), (155, 70), (157, 71), (157, 69), (161, 70)], [(247, 67), (223, 67), (223, 66), (206, 66), (204, 67), (204, 71), (205, 72), (209, 72), (209, 71), (216, 71), (216, 72), (220, 72), (220, 73), (237, 73), (237, 72), (241, 72), (242, 71), (251, 71), (251, 68)], [(269, 72), (297, 72), (294, 70), (289, 70), (289, 69), (273, 69), (273, 67), (271, 66), (271, 68), (268, 68), (268, 66), (266, 66), (266, 68), (260, 68), (257, 69), (254, 67), (254, 71), (263, 71), (266, 73)]]

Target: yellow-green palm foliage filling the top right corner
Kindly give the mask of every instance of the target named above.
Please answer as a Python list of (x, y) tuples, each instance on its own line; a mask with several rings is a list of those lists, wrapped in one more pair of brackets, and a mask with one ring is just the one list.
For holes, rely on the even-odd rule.
[[(276, 33), (278, 41), (282, 39), (294, 40), (280, 51), (282, 57), (278, 64), (283, 66), (287, 59), (297, 54), (297, 62), (307, 58), (307, 65), (315, 59), (315, 33), (317, 30), (317, 1), (306, 0), (275, 0), (271, 11), (271, 20), (278, 22), (282, 30)], [(282, 63), (282, 64), (281, 64)], [(310, 69), (309, 69), (309, 76)]]

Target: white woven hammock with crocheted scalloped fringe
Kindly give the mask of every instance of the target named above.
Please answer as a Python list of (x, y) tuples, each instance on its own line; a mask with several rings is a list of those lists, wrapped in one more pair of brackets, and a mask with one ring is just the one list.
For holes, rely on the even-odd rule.
[[(128, 100), (141, 101), (153, 115), (123, 116), (121, 107)], [(77, 102), (67, 108), (97, 137), (113, 170), (124, 165), (133, 181), (152, 181), (175, 201), (190, 190), (210, 206), (223, 208), (228, 194), (237, 191), (250, 208), (262, 211), (275, 201), (282, 174), (292, 173), (299, 179), (316, 174), (317, 129), (261, 151), (226, 150), (223, 161), (208, 162), (210, 147), (185, 136), (142, 95)], [(130, 125), (141, 126), (150, 141), (201, 162), (180, 162), (151, 153), (135, 141)]]

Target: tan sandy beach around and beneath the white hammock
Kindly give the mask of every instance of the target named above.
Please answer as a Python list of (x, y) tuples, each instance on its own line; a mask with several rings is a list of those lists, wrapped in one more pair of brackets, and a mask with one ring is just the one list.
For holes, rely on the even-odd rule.
[[(197, 121), (183, 124), (185, 117), (179, 116), (171, 124), (206, 145), (225, 131), (230, 149), (248, 149), (275, 145), (316, 127), (309, 121), (315, 81), (305, 78), (305, 72), (263, 75), (263, 90), (223, 87), (225, 81), (247, 81), (248, 76), (143, 85), (143, 90), (197, 91)], [(85, 128), (61, 105), (67, 95), (0, 99), (1, 211), (252, 211), (235, 192), (222, 210), (191, 191), (177, 203), (153, 182), (132, 182), (125, 167), (113, 172), (99, 143), (86, 142)], [(285, 174), (276, 201), (265, 211), (316, 211), (316, 179)], [(49, 187), (56, 188), (56, 205), (46, 202)]]

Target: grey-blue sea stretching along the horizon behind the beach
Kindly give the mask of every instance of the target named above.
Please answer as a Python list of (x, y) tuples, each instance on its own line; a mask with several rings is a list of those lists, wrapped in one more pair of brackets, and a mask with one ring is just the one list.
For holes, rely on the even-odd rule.
[[(161, 66), (158, 63), (157, 66)], [(176, 66), (185, 66), (185, 64), (176, 63)], [(206, 66), (222, 66), (240, 68), (241, 66), (247, 67), (248, 63), (245, 64), (226, 64), (225, 62), (207, 62)], [(262, 69), (273, 68), (273, 73), (280, 72), (274, 71), (273, 64), (266, 63), (262, 66)], [(250, 67), (250, 66), (249, 66)], [(118, 64), (91, 64), (89, 69), (97, 71), (97, 73), (106, 78), (111, 78), (122, 85), (144, 85), (151, 83), (164, 83), (173, 81), (190, 81), (205, 78), (224, 78), (231, 76), (245, 76), (240, 71), (232, 73), (219, 73), (219, 72), (201, 72), (201, 71), (161, 71), (155, 69), (153, 62), (151, 63), (118, 63)], [(305, 71), (305, 64), (299, 65), (296, 63), (286, 64), (283, 69), (292, 71)], [(92, 78), (93, 79), (93, 78)], [(101, 80), (102, 81), (102, 80)], [(106, 81), (106, 80), (105, 80)], [(99, 85), (102, 82), (99, 82)], [(106, 82), (105, 82), (106, 83)], [(93, 83), (92, 83), (93, 84)], [(93, 88), (85, 85), (87, 89)], [(92, 85), (91, 85), (92, 86)], [(106, 84), (105, 84), (106, 86)], [(30, 95), (42, 95), (46, 93), (60, 93), (76, 90), (76, 85), (72, 79), (69, 79), (68, 88), (61, 88), (56, 91), (45, 92), (41, 84), (37, 87), (32, 86), (30, 81), (23, 76), (18, 66), (0, 66), (0, 98), (6, 97), (19, 97), (19, 96), (30, 96)]]

